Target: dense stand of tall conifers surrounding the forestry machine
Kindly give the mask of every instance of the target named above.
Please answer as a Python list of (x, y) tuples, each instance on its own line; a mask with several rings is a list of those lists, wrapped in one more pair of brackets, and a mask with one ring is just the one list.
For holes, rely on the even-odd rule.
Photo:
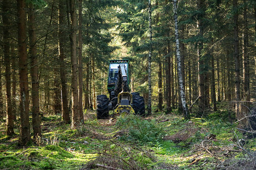
[[(221, 111), (225, 103), (240, 127), (247, 124), (256, 102), (255, 6), (253, 0), (177, 2), (191, 116)], [(1, 0), (0, 14), (0, 118), (6, 135), (19, 126), (20, 146), (31, 135), (42, 137), (41, 118), (49, 114), (72, 129), (85, 121), (96, 96), (108, 95), (109, 59), (129, 59), (131, 91), (148, 105), (150, 52), (152, 114), (182, 113), (172, 1)]]

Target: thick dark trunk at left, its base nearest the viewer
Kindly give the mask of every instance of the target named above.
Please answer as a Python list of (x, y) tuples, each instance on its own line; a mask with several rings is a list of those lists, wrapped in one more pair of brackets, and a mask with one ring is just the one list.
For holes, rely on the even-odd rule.
[(20, 90), (20, 135), (19, 145), (26, 146), (30, 141), (30, 121), (28, 109), (27, 43), (26, 43), (26, 5), (18, 0), (18, 55), (19, 55), (19, 90)]

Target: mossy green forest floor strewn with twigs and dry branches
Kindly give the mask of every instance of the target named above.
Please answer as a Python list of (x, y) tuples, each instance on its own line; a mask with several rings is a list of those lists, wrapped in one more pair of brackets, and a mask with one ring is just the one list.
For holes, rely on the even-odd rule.
[(77, 130), (49, 115), (43, 137), (28, 147), (18, 146), (18, 130), (5, 135), (2, 120), (0, 169), (255, 169), (256, 138), (243, 142), (230, 115), (223, 110), (185, 121), (173, 110), (97, 120), (87, 111)]

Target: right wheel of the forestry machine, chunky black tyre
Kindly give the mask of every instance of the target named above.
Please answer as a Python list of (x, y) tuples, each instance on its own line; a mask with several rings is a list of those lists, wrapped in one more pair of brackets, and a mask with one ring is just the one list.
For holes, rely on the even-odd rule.
[(133, 109), (135, 114), (145, 116), (145, 102), (142, 96), (133, 95)]

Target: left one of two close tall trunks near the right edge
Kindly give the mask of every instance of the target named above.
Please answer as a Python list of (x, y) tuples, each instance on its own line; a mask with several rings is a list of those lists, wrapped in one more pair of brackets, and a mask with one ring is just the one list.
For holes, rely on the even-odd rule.
[(236, 118), (240, 120), (242, 115), (240, 114), (240, 58), (239, 58), (239, 39), (238, 39), (238, 0), (233, 0), (233, 10), (234, 14), (234, 61), (235, 61), (235, 91), (236, 91)]

